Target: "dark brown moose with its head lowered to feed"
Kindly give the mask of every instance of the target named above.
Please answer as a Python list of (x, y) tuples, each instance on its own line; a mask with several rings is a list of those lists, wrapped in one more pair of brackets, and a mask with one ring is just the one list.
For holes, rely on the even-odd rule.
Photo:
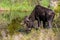
[(41, 5), (36, 5), (29, 17), (27, 16), (25, 18), (25, 23), (29, 30), (31, 30), (31, 28), (34, 26), (35, 20), (38, 22), (37, 28), (40, 27), (41, 21), (43, 22), (43, 28), (52, 28), (54, 16), (55, 13), (53, 10)]

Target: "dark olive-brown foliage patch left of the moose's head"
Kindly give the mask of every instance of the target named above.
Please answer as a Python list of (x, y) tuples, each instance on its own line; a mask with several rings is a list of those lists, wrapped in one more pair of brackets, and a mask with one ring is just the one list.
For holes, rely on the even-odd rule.
[(20, 28), (20, 22), (20, 17), (12, 19), (11, 23), (8, 25), (8, 30), (10, 34), (13, 34), (14, 32), (18, 31), (18, 29)]

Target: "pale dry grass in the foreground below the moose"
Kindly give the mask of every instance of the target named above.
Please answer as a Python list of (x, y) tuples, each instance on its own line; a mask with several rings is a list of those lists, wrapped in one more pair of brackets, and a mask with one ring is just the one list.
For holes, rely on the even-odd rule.
[(4, 34), (1, 31), (0, 40), (57, 40), (59, 35), (56, 35), (52, 29), (31, 30), (29, 34), (18, 32), (14, 35)]

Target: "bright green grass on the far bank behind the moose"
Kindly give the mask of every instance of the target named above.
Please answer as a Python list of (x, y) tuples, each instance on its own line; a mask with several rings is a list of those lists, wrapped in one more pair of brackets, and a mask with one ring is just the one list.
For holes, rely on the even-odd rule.
[[(48, 6), (49, 5), (49, 0), (42, 0), (41, 5), (43, 6)], [(23, 2), (19, 3), (17, 2), (12, 2), (11, 0), (2, 0), (0, 3), (0, 7), (4, 9), (11, 9), (11, 10), (20, 10), (20, 11), (31, 11), (34, 6), (29, 5), (29, 2), (27, 0), (24, 0)]]

